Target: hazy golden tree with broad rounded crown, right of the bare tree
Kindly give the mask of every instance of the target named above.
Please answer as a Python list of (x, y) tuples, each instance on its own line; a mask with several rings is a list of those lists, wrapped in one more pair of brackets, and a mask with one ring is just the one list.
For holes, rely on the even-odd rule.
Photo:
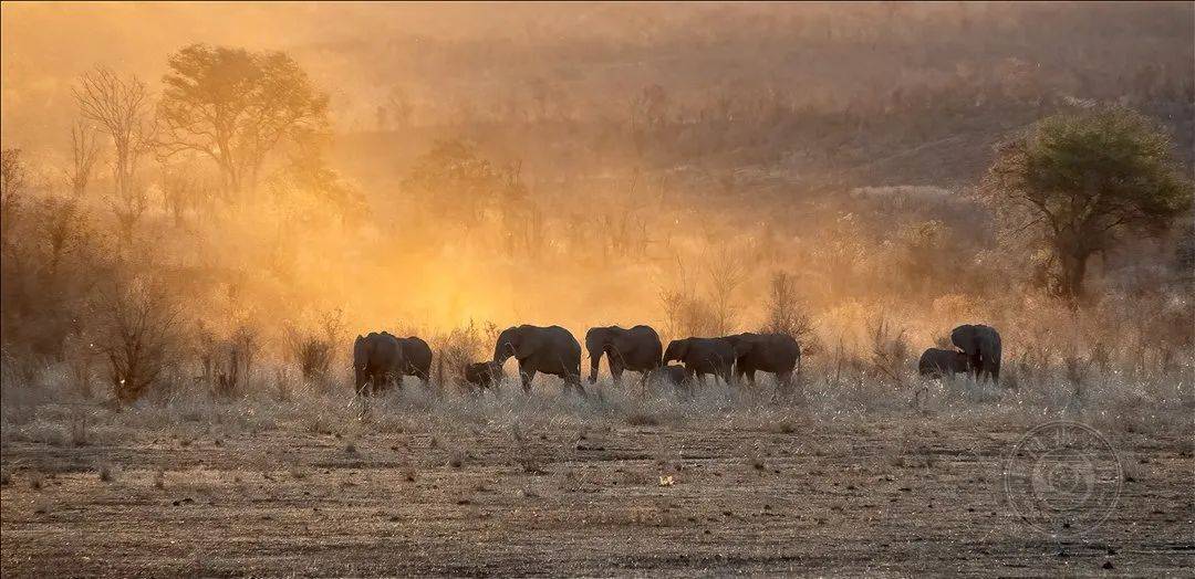
[(209, 156), (233, 195), (257, 186), (281, 142), (327, 128), (327, 96), (286, 53), (192, 44), (167, 64), (161, 144)]

